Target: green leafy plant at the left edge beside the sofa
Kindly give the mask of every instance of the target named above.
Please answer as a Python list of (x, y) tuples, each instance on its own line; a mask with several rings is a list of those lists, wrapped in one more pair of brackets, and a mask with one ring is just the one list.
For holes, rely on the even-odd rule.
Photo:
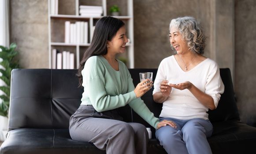
[(14, 59), (18, 54), (18, 51), (15, 51), (17, 45), (12, 43), (10, 48), (0, 46), (2, 51), (0, 51), (0, 79), (4, 82), (5, 85), (0, 86), (0, 90), (4, 92), (3, 95), (0, 95), (0, 115), (8, 117), (9, 103), (10, 103), (10, 88), (11, 88), (11, 70), (19, 68), (19, 63)]

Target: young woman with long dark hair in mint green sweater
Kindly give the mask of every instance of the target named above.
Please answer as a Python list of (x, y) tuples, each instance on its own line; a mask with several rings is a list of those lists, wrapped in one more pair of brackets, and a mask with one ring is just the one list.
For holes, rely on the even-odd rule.
[(123, 122), (117, 108), (129, 104), (154, 128), (163, 123), (140, 99), (152, 81), (142, 81), (134, 88), (129, 70), (115, 59), (116, 54), (125, 52), (127, 42), (124, 22), (109, 16), (100, 18), (78, 69), (84, 92), (80, 107), (70, 117), (70, 136), (91, 142), (107, 154), (146, 154), (145, 126)]

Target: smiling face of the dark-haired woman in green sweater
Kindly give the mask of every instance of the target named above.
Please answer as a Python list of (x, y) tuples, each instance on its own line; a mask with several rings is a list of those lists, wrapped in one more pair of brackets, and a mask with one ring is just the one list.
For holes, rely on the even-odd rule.
[(111, 41), (108, 41), (108, 53), (114, 55), (118, 53), (124, 53), (127, 42), (128, 39), (126, 37), (126, 29), (125, 26), (122, 26), (116, 32), (115, 37), (113, 37)]

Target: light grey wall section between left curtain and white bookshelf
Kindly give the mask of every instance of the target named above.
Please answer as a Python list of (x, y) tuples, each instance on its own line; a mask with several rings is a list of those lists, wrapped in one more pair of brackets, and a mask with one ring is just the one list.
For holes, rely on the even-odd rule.
[(23, 68), (48, 68), (48, 1), (10, 0), (10, 42)]

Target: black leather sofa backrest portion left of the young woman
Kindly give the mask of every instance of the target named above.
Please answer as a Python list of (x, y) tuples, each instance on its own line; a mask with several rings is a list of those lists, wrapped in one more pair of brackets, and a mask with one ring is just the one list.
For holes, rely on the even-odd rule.
[(68, 128), (81, 103), (77, 70), (15, 69), (11, 72), (8, 130)]

